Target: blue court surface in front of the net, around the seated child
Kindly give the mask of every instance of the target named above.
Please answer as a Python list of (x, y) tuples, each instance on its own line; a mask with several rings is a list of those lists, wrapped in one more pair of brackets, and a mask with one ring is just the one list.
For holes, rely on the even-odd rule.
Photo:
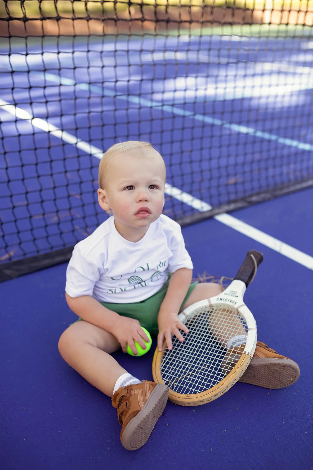
[[(311, 239), (312, 256), (312, 227), (298, 214), (298, 205), (312, 196), (308, 190), (236, 215), (251, 221), (258, 214), (263, 230), (286, 239), (297, 226), (296, 233)], [(312, 206), (308, 213), (312, 220)], [(206, 270), (233, 277), (248, 249), (263, 252), (245, 301), (259, 339), (299, 364), (296, 384), (268, 390), (238, 383), (199, 407), (168, 402), (145, 446), (129, 452), (120, 444), (111, 400), (59, 355), (58, 339), (76, 317), (64, 300), (66, 264), (55, 266), (0, 284), (1, 468), (312, 468), (312, 271), (214, 219), (183, 228), (183, 235), (195, 276)], [(115, 358), (151, 380), (153, 350)]]

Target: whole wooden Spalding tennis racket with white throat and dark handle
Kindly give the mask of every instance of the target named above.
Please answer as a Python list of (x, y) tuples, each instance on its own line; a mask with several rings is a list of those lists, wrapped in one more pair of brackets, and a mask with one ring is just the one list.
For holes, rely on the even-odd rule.
[(221, 294), (196, 302), (180, 313), (189, 333), (173, 335), (153, 356), (154, 382), (169, 388), (168, 399), (183, 406), (203, 405), (227, 392), (248, 367), (257, 342), (257, 327), (244, 304), (244, 292), (263, 261), (248, 251), (234, 280)]

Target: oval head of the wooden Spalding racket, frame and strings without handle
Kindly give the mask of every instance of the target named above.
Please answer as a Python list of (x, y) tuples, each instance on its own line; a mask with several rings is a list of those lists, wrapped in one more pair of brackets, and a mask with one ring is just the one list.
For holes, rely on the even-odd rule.
[[(243, 375), (255, 350), (257, 328), (250, 310), (241, 302), (236, 309), (217, 297), (190, 305), (180, 315), (189, 333), (181, 331), (184, 341), (173, 337), (173, 349), (164, 341), (162, 351), (153, 357), (153, 380), (168, 386), (168, 399), (183, 406), (197, 406), (219, 398)], [(242, 346), (232, 348), (237, 360), (227, 365), (227, 350), (210, 333), (210, 317), (223, 313), (238, 315), (246, 332)], [(224, 326), (223, 326), (224, 328)], [(232, 325), (229, 321), (229, 330)], [(236, 328), (233, 336), (236, 336)], [(239, 352), (239, 354), (237, 353)], [(224, 364), (223, 364), (224, 361)]]

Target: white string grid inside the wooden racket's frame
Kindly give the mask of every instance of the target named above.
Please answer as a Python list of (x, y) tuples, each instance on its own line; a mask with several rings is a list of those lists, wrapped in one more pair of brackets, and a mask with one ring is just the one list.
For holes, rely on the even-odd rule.
[(182, 332), (183, 342), (172, 338), (173, 349), (165, 350), (160, 371), (171, 390), (194, 394), (212, 388), (235, 367), (240, 345), (232, 348), (230, 358), (225, 345), (238, 331), (246, 336), (247, 326), (236, 309), (219, 305), (195, 310), (185, 325), (189, 333)]

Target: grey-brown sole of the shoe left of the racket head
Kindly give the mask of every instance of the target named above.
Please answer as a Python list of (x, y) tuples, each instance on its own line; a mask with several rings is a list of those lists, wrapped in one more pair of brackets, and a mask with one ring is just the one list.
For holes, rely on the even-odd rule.
[(122, 437), (122, 446), (127, 450), (136, 450), (143, 446), (160, 418), (168, 401), (168, 387), (157, 384), (145, 402), (145, 406), (127, 424)]

